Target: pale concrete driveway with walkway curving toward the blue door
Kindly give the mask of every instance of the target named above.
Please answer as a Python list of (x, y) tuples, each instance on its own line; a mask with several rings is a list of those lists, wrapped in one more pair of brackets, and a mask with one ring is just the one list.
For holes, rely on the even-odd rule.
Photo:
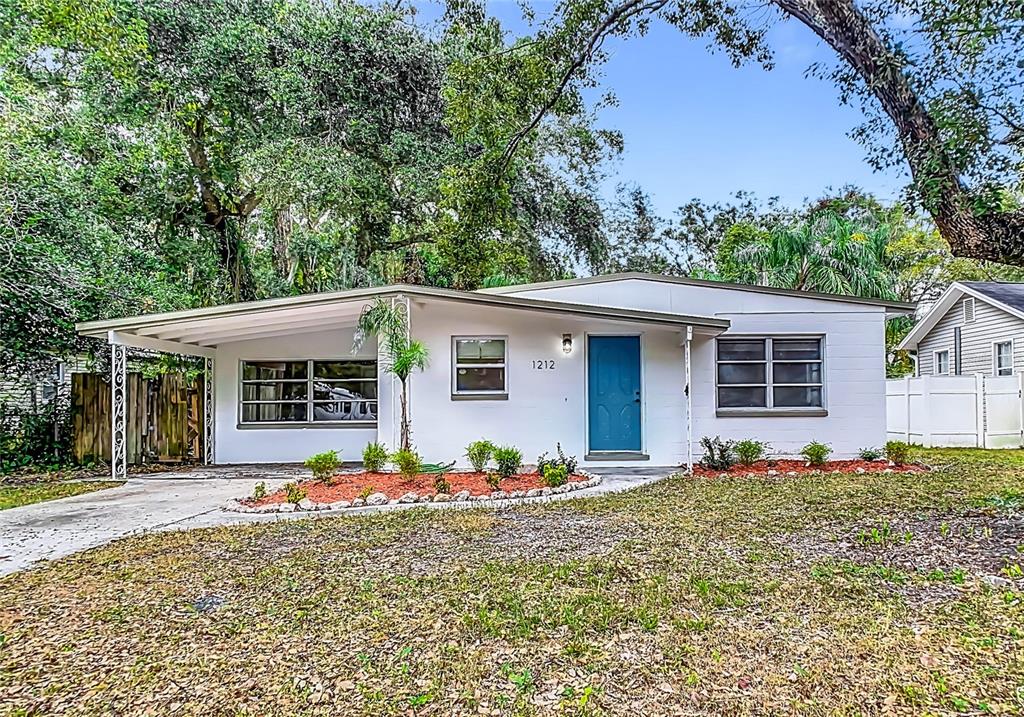
[[(560, 496), (501, 501), (501, 506), (587, 498), (645, 486), (674, 468), (608, 468), (592, 472), (599, 486)], [(264, 481), (273, 491), (288, 480), (307, 477), (300, 466), (211, 466), (180, 473), (130, 477), (119, 488), (0, 510), (0, 576), (94, 548), (125, 536), (272, 520), (322, 518), (407, 510), (496, 506), (496, 503), (416, 503), (349, 508), (317, 513), (234, 513), (221, 509), (231, 498), (252, 495)]]

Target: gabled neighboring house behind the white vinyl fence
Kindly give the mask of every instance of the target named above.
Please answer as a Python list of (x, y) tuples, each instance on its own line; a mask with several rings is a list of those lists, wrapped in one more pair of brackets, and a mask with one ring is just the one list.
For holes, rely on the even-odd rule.
[(955, 282), (898, 348), (919, 376), (1013, 376), (1024, 371), (1024, 284)]

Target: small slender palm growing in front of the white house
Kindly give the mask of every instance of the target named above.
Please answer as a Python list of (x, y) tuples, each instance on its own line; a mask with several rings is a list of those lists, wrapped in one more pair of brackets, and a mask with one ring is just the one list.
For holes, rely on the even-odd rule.
[(384, 354), (384, 370), (401, 382), (401, 448), (412, 450), (409, 428), (409, 377), (414, 370), (427, 368), (430, 351), (422, 341), (409, 335), (404, 307), (382, 298), (362, 309), (355, 325), (352, 352), (358, 351), (370, 335), (376, 335)]

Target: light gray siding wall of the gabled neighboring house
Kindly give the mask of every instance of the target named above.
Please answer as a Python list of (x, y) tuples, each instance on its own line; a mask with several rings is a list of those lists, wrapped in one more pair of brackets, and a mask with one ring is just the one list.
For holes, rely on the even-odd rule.
[(953, 349), (953, 329), (961, 327), (961, 374), (992, 375), (992, 343), (1014, 342), (1014, 373), (1024, 371), (1024, 320), (986, 301), (975, 299), (974, 321), (964, 323), (964, 300), (949, 307), (939, 323), (928, 332), (918, 344), (918, 372), (929, 376), (935, 372), (935, 351), (949, 351), (949, 373), (956, 372), (956, 355)]

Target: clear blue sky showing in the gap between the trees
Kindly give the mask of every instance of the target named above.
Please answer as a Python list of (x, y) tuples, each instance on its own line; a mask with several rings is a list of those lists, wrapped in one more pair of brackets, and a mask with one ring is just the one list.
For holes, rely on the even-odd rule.
[[(553, 5), (531, 6), (541, 20)], [(424, 20), (439, 11), (418, 7)], [(487, 8), (514, 34), (528, 32), (516, 3)], [(793, 20), (776, 25), (769, 44), (775, 68), (766, 72), (737, 70), (724, 53), (665, 24), (644, 38), (608, 43), (603, 83), (618, 107), (603, 110), (599, 124), (621, 130), (626, 150), (606, 192), (638, 183), (664, 216), (691, 198), (726, 201), (738, 189), (787, 205), (848, 183), (897, 198), (905, 176), (873, 172), (848, 136), (861, 122), (859, 110), (841, 106), (830, 83), (805, 77), (812, 62), (831, 60), (830, 49)]]

